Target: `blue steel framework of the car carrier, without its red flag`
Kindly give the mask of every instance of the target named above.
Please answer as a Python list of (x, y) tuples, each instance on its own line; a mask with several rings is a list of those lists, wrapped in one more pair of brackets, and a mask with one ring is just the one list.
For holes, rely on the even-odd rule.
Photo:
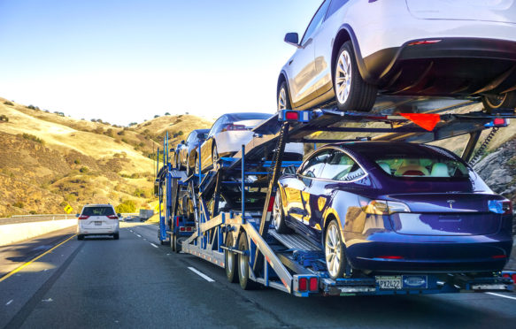
[[(455, 108), (460, 108), (460, 106)], [(446, 108), (442, 111), (449, 110), (450, 108)], [(438, 111), (434, 111), (432, 115), (438, 115), (435, 112)], [(316, 131), (380, 132), (388, 134), (375, 137), (374, 140), (390, 139), (408, 142), (434, 142), (461, 134), (469, 134), (469, 142), (467, 142), (466, 149), (462, 154), (462, 157), (467, 161), (473, 156), (474, 146), (478, 142), (482, 131), (490, 127), (507, 126), (508, 119), (516, 118), (513, 112), (502, 112), (497, 115), (473, 112), (438, 116), (439, 119), (438, 122), (435, 122), (435, 127), (425, 129), (416, 125), (411, 119), (407, 119), (404, 114), (338, 112), (332, 109), (281, 111), (278, 115), (267, 119), (263, 124), (253, 129), (256, 137), (252, 142), (243, 145), (242, 150), (234, 157), (219, 159), (219, 163), (209, 172), (196, 172), (185, 179), (184, 175), (173, 169), (171, 164), (168, 163), (168, 155), (166, 154), (165, 159), (164, 154), (164, 168), (158, 171), (156, 184), (160, 195), (164, 185), (166, 185), (166, 188), (173, 186), (173, 180), (177, 182), (175, 185), (177, 192), (179, 192), (181, 185), (188, 185), (189, 187), (189, 197), (194, 203), (196, 230), (190, 234), (186, 241), (182, 242), (181, 249), (183, 252), (203, 258), (222, 268), (226, 267), (226, 256), (229, 253), (239, 257), (248, 256), (249, 279), (265, 287), (273, 287), (296, 296), (417, 295), (463, 291), (512, 291), (513, 273), (510, 273), (510, 275), (493, 273), (493, 276), (489, 278), (473, 278), (460, 273), (399, 274), (396, 276), (403, 282), (408, 282), (408, 284), (397, 290), (381, 290), (377, 282), (377, 279), (381, 276), (334, 280), (328, 277), (325, 267), (321, 268), (320, 251), (288, 249), (285, 247), (287, 245), (285, 239), (299, 240), (301, 238), (296, 237), (296, 234), (284, 237), (282, 234), (275, 233), (275, 231), (268, 233), (281, 168), (296, 165), (295, 163), (283, 163), (282, 161), (287, 142), (342, 142), (342, 140), (306, 138)], [(435, 117), (433, 118), (435, 119)], [(384, 122), (391, 127), (383, 129), (360, 126), (332, 126), (335, 123), (366, 122)], [(164, 146), (166, 146), (166, 149), (168, 148), (165, 142)], [(260, 155), (264, 153), (264, 149), (272, 148), (273, 160), (264, 161)], [(200, 155), (200, 150), (197, 153)], [(199, 168), (201, 168), (201, 159), (199, 158), (198, 161)], [(299, 164), (300, 162), (297, 165)], [(256, 176), (257, 174), (267, 174), (267, 178), (269, 178), (263, 210), (261, 212), (246, 211), (245, 193), (246, 189), (252, 187), (252, 183), (247, 181), (246, 177)], [(240, 181), (225, 182), (224, 180), (228, 177), (239, 178)], [(242, 210), (221, 212), (217, 216), (211, 217), (206, 203), (210, 195), (205, 195), (205, 193), (207, 190), (214, 190), (213, 212), (218, 213), (219, 188), (226, 183), (241, 185)], [(168, 233), (173, 232), (173, 230), (167, 229), (167, 218), (170, 216), (181, 218), (174, 212), (177, 209), (177, 195), (178, 193), (174, 192), (167, 194), (166, 217), (160, 215), (160, 229), (163, 224), (165, 232)], [(173, 198), (175, 199), (173, 200)], [(174, 211), (169, 212), (169, 210)], [(170, 220), (168, 222), (170, 223)], [(248, 249), (238, 248), (239, 235), (246, 237)], [(225, 244), (229, 236), (234, 242), (232, 245)], [(162, 237), (160, 237), (161, 239)], [(239, 271), (238, 266), (236, 266), (236, 269)]]

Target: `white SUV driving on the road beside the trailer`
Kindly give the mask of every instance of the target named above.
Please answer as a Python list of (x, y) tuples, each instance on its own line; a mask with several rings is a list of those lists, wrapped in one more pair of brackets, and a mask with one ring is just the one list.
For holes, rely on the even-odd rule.
[(77, 220), (77, 239), (86, 235), (112, 235), (119, 239), (119, 214), (111, 204), (89, 204), (82, 208)]

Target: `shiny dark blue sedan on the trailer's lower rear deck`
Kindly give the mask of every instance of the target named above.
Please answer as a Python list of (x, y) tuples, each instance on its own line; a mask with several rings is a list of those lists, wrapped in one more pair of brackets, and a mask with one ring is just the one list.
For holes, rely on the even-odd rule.
[(450, 151), (405, 142), (327, 145), (284, 174), (279, 233), (321, 245), (350, 272), (497, 272), (512, 249), (512, 204)]

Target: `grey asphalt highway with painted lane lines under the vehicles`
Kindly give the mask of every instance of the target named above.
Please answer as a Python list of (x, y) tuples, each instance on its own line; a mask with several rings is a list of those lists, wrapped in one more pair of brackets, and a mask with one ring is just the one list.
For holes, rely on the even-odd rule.
[(516, 294), (297, 298), (243, 291), (223, 269), (160, 246), (156, 226), (123, 223), (119, 241), (69, 237), (0, 248), (0, 275), (25, 264), (0, 279), (0, 327), (516, 326)]

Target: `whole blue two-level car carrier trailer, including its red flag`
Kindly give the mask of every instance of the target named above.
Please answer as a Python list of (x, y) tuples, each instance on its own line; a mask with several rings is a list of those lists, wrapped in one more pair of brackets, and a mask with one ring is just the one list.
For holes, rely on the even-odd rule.
[[(512, 291), (514, 272), (496, 272), (488, 277), (450, 272), (358, 278), (346, 273), (343, 279), (330, 279), (321, 246), (297, 233), (277, 233), (271, 226), (281, 172), (301, 165), (300, 161), (284, 161), (287, 142), (343, 142), (339, 138), (315, 138), (314, 134), (321, 131), (330, 136), (358, 133), (362, 134), (358, 139), (404, 142), (435, 142), (466, 134), (469, 140), (462, 158), (471, 163), (477, 161), (493, 134), (507, 126), (509, 119), (516, 118), (512, 110), (493, 115), (484, 111), (455, 113), (474, 102), (455, 101), (443, 107), (419, 102), (410, 103), (409, 113), (398, 112), (397, 105), (372, 112), (341, 112), (331, 107), (280, 111), (255, 127), (253, 140), (234, 157), (221, 157), (208, 172), (194, 172), (189, 177), (168, 161), (166, 136), (163, 151), (158, 150), (155, 181), (160, 203), (159, 241), (170, 243), (177, 252), (181, 250), (217, 264), (226, 270), (228, 280), (240, 282), (243, 289), (262, 285), (304, 297)], [(475, 145), (487, 129), (491, 132), (474, 157)], [(200, 158), (197, 160), (201, 162)], [(238, 209), (219, 211), (221, 191), (225, 188), (240, 194)], [(257, 191), (266, 193), (264, 198), (258, 198), (258, 209), (254, 198)]]

